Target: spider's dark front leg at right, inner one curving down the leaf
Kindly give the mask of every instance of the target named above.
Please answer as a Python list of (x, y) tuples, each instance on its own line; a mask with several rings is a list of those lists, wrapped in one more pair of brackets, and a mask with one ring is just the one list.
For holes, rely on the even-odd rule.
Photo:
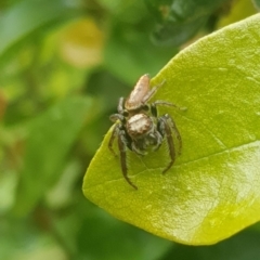
[(162, 174), (166, 173), (166, 171), (168, 171), (171, 168), (171, 166), (174, 164), (174, 160), (176, 160), (176, 147), (174, 147), (173, 139), (171, 135), (171, 126), (169, 125), (169, 121), (168, 121), (169, 118), (170, 117), (167, 114), (158, 118), (158, 128), (162, 136), (166, 135), (167, 138), (167, 144), (168, 144), (169, 155), (170, 155), (170, 162), (162, 170)]

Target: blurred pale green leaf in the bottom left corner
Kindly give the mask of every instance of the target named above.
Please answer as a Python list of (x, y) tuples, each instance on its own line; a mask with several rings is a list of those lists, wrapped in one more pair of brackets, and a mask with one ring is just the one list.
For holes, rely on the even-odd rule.
[(51, 232), (42, 232), (31, 225), (31, 219), (1, 218), (0, 259), (29, 260), (39, 256), (50, 259), (66, 259), (60, 242)]

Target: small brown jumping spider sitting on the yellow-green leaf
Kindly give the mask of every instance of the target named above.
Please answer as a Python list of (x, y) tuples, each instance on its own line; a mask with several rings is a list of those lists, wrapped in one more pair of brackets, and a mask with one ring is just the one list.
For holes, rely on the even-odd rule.
[(147, 154), (150, 147), (152, 147), (153, 151), (157, 151), (166, 138), (170, 161), (162, 170), (162, 173), (166, 173), (166, 171), (171, 168), (177, 156), (172, 133), (179, 141), (178, 154), (181, 154), (182, 140), (173, 119), (168, 114), (162, 116), (158, 116), (157, 114), (157, 105), (176, 105), (161, 100), (151, 104), (147, 103), (164, 83), (165, 81), (150, 89), (150, 76), (147, 74), (143, 75), (130, 95), (127, 99), (119, 99), (117, 114), (113, 114), (109, 117), (116, 125), (108, 142), (108, 148), (117, 156), (113, 150), (113, 143), (117, 138), (123, 178), (135, 190), (138, 190), (138, 187), (128, 177), (127, 148), (143, 156)]

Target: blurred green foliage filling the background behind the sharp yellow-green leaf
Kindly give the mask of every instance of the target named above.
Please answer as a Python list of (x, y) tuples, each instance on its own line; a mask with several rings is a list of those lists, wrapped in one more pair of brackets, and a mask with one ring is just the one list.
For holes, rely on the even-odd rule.
[[(240, 1), (209, 6), (195, 37), (217, 29)], [(194, 40), (196, 31), (186, 26), (185, 32), (180, 25), (180, 39), (176, 35), (167, 47), (155, 46), (151, 36), (158, 20), (147, 2), (0, 2), (0, 259), (260, 256), (259, 225), (216, 246), (181, 246), (117, 221), (82, 195), (86, 168), (118, 98), (140, 75), (154, 76), (180, 43)], [(184, 8), (191, 10), (202, 1), (188, 2)], [(240, 13), (251, 10), (246, 2)]]

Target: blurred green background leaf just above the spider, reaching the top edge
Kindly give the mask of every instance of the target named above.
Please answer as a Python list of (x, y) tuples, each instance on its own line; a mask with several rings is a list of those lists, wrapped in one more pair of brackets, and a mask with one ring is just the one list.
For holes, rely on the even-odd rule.
[(110, 23), (113, 30), (104, 50), (106, 68), (129, 84), (147, 72), (155, 75), (178, 49), (156, 47), (147, 40), (153, 24), (143, 1), (134, 0), (121, 5), (114, 1), (109, 4), (117, 15)]

